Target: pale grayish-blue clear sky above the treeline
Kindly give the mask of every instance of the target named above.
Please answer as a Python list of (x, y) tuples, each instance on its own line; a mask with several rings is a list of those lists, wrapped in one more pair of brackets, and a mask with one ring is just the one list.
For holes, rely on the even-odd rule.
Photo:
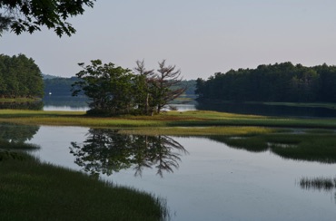
[(335, 0), (97, 0), (69, 22), (71, 37), (7, 32), (0, 53), (60, 77), (95, 59), (148, 70), (165, 59), (185, 80), (275, 62), (336, 65)]

